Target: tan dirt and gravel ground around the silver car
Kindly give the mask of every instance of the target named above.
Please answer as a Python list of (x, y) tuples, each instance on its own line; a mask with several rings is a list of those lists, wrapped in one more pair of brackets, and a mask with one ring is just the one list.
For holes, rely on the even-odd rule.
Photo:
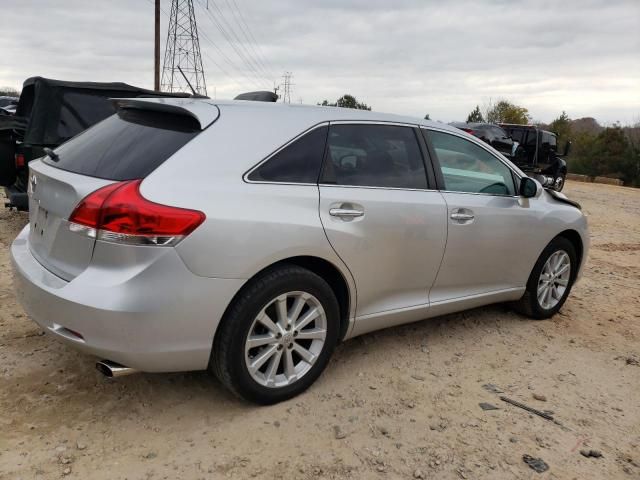
[(640, 479), (640, 190), (566, 190), (592, 249), (552, 320), (499, 305), (366, 335), (272, 407), (205, 373), (108, 380), (43, 335), (12, 291), (27, 217), (0, 207), (0, 478)]

